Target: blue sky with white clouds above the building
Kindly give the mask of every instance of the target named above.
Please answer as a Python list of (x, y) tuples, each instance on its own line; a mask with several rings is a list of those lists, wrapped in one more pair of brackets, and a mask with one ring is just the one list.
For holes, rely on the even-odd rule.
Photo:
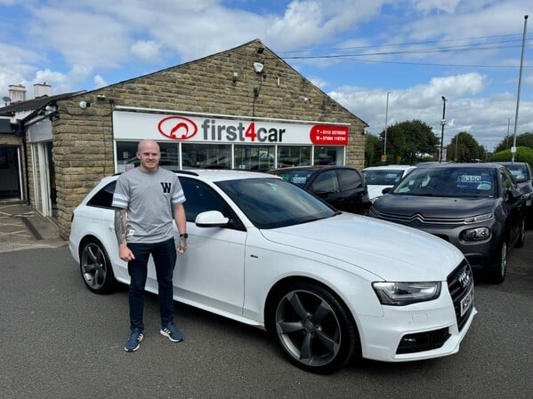
[(444, 145), (468, 132), (491, 151), (533, 132), (531, 12), (524, 0), (0, 0), (0, 98), (10, 84), (28, 100), (36, 83), (91, 91), (258, 38), (368, 133), (418, 119), (440, 138), (444, 113)]

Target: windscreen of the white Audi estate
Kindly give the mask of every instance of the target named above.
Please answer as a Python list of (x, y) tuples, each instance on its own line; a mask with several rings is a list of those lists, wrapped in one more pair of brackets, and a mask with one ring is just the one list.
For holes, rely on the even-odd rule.
[(327, 203), (286, 180), (239, 179), (217, 185), (258, 228), (292, 226), (335, 215)]

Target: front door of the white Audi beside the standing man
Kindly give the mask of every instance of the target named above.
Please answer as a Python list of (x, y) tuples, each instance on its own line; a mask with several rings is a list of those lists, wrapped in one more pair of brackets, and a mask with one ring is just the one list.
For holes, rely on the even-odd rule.
[[(206, 183), (180, 177), (186, 202), (188, 249), (178, 255), (174, 294), (178, 300), (214, 311), (242, 315), (246, 228), (230, 205)], [(221, 211), (230, 227), (197, 227), (202, 211)], [(176, 229), (177, 235), (177, 229)]]

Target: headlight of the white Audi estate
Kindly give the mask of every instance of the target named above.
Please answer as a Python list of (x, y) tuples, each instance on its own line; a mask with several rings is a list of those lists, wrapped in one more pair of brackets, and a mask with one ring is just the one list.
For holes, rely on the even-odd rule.
[(439, 298), (440, 281), (422, 283), (372, 283), (377, 298), (383, 305), (405, 306)]

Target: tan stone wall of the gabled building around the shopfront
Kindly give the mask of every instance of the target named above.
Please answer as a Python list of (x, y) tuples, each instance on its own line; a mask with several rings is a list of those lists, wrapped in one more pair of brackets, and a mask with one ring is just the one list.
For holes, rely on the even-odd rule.
[[(258, 49), (263, 48), (262, 53)], [(254, 62), (262, 62), (256, 74)], [(233, 83), (233, 73), (237, 82)], [(91, 103), (80, 108), (80, 101)], [(112, 110), (114, 106), (190, 113), (281, 118), (295, 121), (348, 123), (346, 164), (363, 167), (366, 124), (259, 40), (201, 60), (113, 84), (58, 103), (53, 122), (58, 222), (69, 235), (71, 211), (101, 180), (114, 172)]]

